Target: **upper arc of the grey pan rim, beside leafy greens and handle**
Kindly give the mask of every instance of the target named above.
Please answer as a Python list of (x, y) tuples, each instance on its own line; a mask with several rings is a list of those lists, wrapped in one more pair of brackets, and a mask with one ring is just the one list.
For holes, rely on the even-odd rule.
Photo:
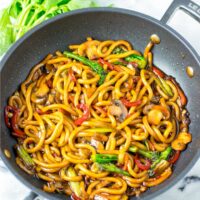
[(145, 14), (133, 11), (133, 10), (128, 10), (128, 9), (124, 9), (124, 8), (100, 7), (100, 8), (83, 8), (83, 9), (78, 9), (78, 10), (70, 11), (70, 12), (67, 12), (67, 13), (63, 13), (63, 14), (57, 15), (57, 16), (55, 16), (55, 17), (53, 17), (53, 18), (51, 18), (49, 20), (46, 20), (46, 21), (42, 22), (41, 24), (35, 26), (31, 30), (29, 30), (27, 33), (25, 33), (14, 44), (12, 44), (12, 46), (9, 48), (9, 50), (6, 52), (6, 54), (3, 56), (2, 60), (0, 61), (0, 73), (1, 73), (1, 71), (3, 69), (2, 66), (4, 66), (4, 64), (6, 63), (6, 61), (10, 57), (10, 55), (13, 53), (13, 51), (21, 43), (23, 43), (28, 37), (30, 37), (34, 32), (42, 29), (44, 26), (47, 26), (47, 25), (50, 25), (51, 23), (59, 21), (62, 18), (73, 16), (73, 15), (77, 15), (77, 14), (90, 13), (90, 12), (96, 12), (96, 13), (97, 12), (120, 13), (120, 14), (125, 14), (125, 15), (131, 15), (133, 17), (134, 16), (135, 17), (139, 17), (139, 18), (142, 18), (142, 19), (144, 19), (146, 21), (154, 23), (154, 24), (160, 26), (161, 28), (163, 28), (165, 31), (167, 31), (170, 34), (172, 34), (177, 40), (179, 40), (189, 50), (189, 52), (193, 55), (195, 60), (200, 65), (200, 55), (197, 53), (197, 51), (192, 47), (192, 45), (183, 36), (181, 36), (178, 32), (176, 32), (174, 29), (172, 29), (167, 24), (163, 24), (161, 21), (159, 21), (159, 20), (157, 20), (157, 19), (155, 19), (155, 18), (153, 18), (151, 16), (148, 16), (148, 15), (145, 15)]

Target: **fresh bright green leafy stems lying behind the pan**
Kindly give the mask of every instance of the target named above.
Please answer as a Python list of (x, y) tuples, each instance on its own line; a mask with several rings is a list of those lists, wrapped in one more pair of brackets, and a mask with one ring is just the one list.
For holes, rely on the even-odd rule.
[(0, 56), (44, 20), (71, 10), (96, 6), (93, 0), (13, 0), (0, 12)]

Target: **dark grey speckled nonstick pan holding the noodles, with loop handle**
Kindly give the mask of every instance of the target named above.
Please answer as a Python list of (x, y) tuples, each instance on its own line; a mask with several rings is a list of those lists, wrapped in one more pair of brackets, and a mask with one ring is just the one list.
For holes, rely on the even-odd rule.
[[(156, 33), (161, 38), (161, 44), (154, 48), (154, 63), (167, 74), (176, 77), (186, 92), (189, 99), (188, 110), (192, 121), (190, 131), (193, 135), (193, 142), (181, 154), (173, 175), (161, 185), (142, 194), (141, 199), (147, 200), (161, 194), (182, 178), (192, 168), (200, 155), (200, 57), (188, 42), (168, 27), (165, 22), (177, 7), (181, 7), (181, 9), (190, 12), (192, 16), (198, 17), (198, 8), (194, 5), (186, 0), (176, 1), (170, 6), (161, 21), (123, 9), (78, 10), (44, 22), (17, 41), (1, 62), (0, 153), (12, 173), (32, 191), (47, 199), (66, 199), (65, 195), (43, 192), (41, 190), (43, 182), (30, 177), (16, 165), (13, 151), (16, 140), (4, 124), (3, 110), (8, 97), (26, 78), (36, 63), (50, 52), (55, 52), (58, 49), (63, 51), (69, 44), (83, 42), (87, 36), (99, 40), (125, 39), (131, 42), (136, 49), (143, 51), (149, 41), (149, 36)], [(191, 7), (193, 11), (191, 11)], [(188, 65), (192, 66), (195, 71), (195, 76), (192, 79), (185, 72), (185, 67)], [(11, 159), (5, 157), (4, 149), (10, 150)], [(136, 199), (136, 197), (132, 197), (132, 199)]]

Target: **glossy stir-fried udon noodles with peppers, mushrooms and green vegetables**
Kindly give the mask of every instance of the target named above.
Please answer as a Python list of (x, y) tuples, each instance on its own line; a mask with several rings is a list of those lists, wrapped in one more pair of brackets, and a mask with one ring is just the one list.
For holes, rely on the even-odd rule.
[[(72, 199), (138, 196), (172, 174), (191, 141), (174, 78), (124, 40), (87, 38), (49, 54), (8, 100), (16, 163)], [(162, 66), (161, 66), (162, 67)]]

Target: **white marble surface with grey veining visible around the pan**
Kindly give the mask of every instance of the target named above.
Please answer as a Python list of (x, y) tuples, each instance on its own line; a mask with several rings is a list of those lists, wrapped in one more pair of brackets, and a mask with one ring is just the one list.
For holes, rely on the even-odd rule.
[[(0, 0), (0, 9), (5, 7), (10, 0)], [(172, 2), (172, 0), (96, 0), (100, 5), (113, 4), (115, 7), (127, 8), (150, 15), (156, 19), (161, 19), (162, 15)], [(200, 0), (193, 0), (200, 5)], [(162, 4), (162, 5), (161, 5)], [(184, 21), (184, 23), (182, 23)], [(192, 20), (185, 13), (177, 12), (170, 20), (169, 25), (180, 32), (200, 54), (200, 24)], [(185, 26), (187, 25), (187, 28)], [(193, 166), (186, 177), (195, 176), (195, 180), (200, 178), (200, 159)], [(199, 200), (200, 199), (200, 181), (189, 181), (185, 179), (187, 187), (182, 192), (179, 188), (183, 186), (184, 179), (179, 181), (170, 190), (158, 196), (154, 200)], [(0, 199), (1, 200), (23, 200), (29, 195), (30, 190), (21, 184), (0, 161)], [(12, 190), (11, 190), (12, 188)], [(13, 189), (14, 188), (14, 189)], [(41, 199), (42, 198), (37, 198)]]

